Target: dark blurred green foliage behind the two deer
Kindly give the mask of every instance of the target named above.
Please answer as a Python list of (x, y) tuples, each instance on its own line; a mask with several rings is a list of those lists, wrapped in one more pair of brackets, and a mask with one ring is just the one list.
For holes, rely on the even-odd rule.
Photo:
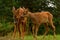
[[(52, 4), (52, 6), (49, 4)], [(16, 9), (19, 7), (29, 8), (31, 12), (51, 12), (54, 16), (53, 21), (56, 26), (56, 33), (60, 33), (60, 0), (0, 0), (0, 33), (12, 31), (13, 24), (10, 23), (13, 23), (13, 6)], [(32, 22), (29, 21), (29, 24), (31, 26)], [(39, 33), (42, 34), (42, 31), (44, 32), (43, 27), (39, 29)]]

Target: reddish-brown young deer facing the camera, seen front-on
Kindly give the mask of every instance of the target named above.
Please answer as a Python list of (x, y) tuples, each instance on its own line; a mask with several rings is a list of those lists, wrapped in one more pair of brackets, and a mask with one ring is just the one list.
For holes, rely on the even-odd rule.
[[(18, 29), (19, 36), (22, 36), (22, 40), (24, 40), (25, 26), (26, 26), (26, 17), (23, 16), (24, 8), (15, 9), (13, 7), (13, 19), (14, 19), (14, 33), (13, 36), (15, 38), (16, 30)], [(20, 29), (22, 25), (22, 30)]]

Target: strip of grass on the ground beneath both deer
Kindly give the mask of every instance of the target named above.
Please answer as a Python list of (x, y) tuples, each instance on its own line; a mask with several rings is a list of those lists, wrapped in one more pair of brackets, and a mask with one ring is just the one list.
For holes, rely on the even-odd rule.
[[(41, 40), (42, 37), (43, 37), (43, 35), (37, 36), (37, 39)], [(7, 36), (0, 37), (0, 40), (9, 40), (9, 39), (12, 40), (11, 38), (12, 38), (12, 33), (10, 33)], [(19, 39), (18, 35), (16, 35), (15, 40), (21, 40), (21, 39)], [(25, 35), (24, 40), (33, 40), (33, 36), (32, 35)], [(44, 40), (53, 40), (53, 35), (47, 35)], [(56, 40), (60, 40), (60, 35), (56, 35)]]

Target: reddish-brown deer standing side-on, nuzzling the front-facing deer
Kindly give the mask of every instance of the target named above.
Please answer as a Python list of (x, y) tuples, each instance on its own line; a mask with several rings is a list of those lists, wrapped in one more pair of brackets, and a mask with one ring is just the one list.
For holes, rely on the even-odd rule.
[[(39, 26), (41, 24), (44, 24), (45, 29), (46, 29), (46, 31), (44, 33), (44, 37), (46, 36), (46, 34), (49, 31), (48, 24), (51, 25), (53, 32), (54, 32), (54, 37), (55, 37), (55, 26), (53, 24), (53, 15), (50, 12), (42, 11), (42, 12), (32, 13), (28, 9), (25, 9), (25, 15), (27, 17), (30, 17), (32, 20), (32, 23), (33, 23), (32, 31), (33, 31), (33, 37), (34, 38), (37, 39), (37, 32), (38, 32)], [(34, 32), (34, 30), (35, 30), (35, 32)]]

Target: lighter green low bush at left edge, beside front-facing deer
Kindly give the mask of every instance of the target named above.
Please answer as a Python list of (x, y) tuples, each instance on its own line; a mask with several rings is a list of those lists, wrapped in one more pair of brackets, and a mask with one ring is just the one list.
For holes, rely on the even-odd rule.
[(13, 29), (13, 25), (8, 23), (0, 23), (0, 36), (7, 35), (7, 33), (11, 32)]

